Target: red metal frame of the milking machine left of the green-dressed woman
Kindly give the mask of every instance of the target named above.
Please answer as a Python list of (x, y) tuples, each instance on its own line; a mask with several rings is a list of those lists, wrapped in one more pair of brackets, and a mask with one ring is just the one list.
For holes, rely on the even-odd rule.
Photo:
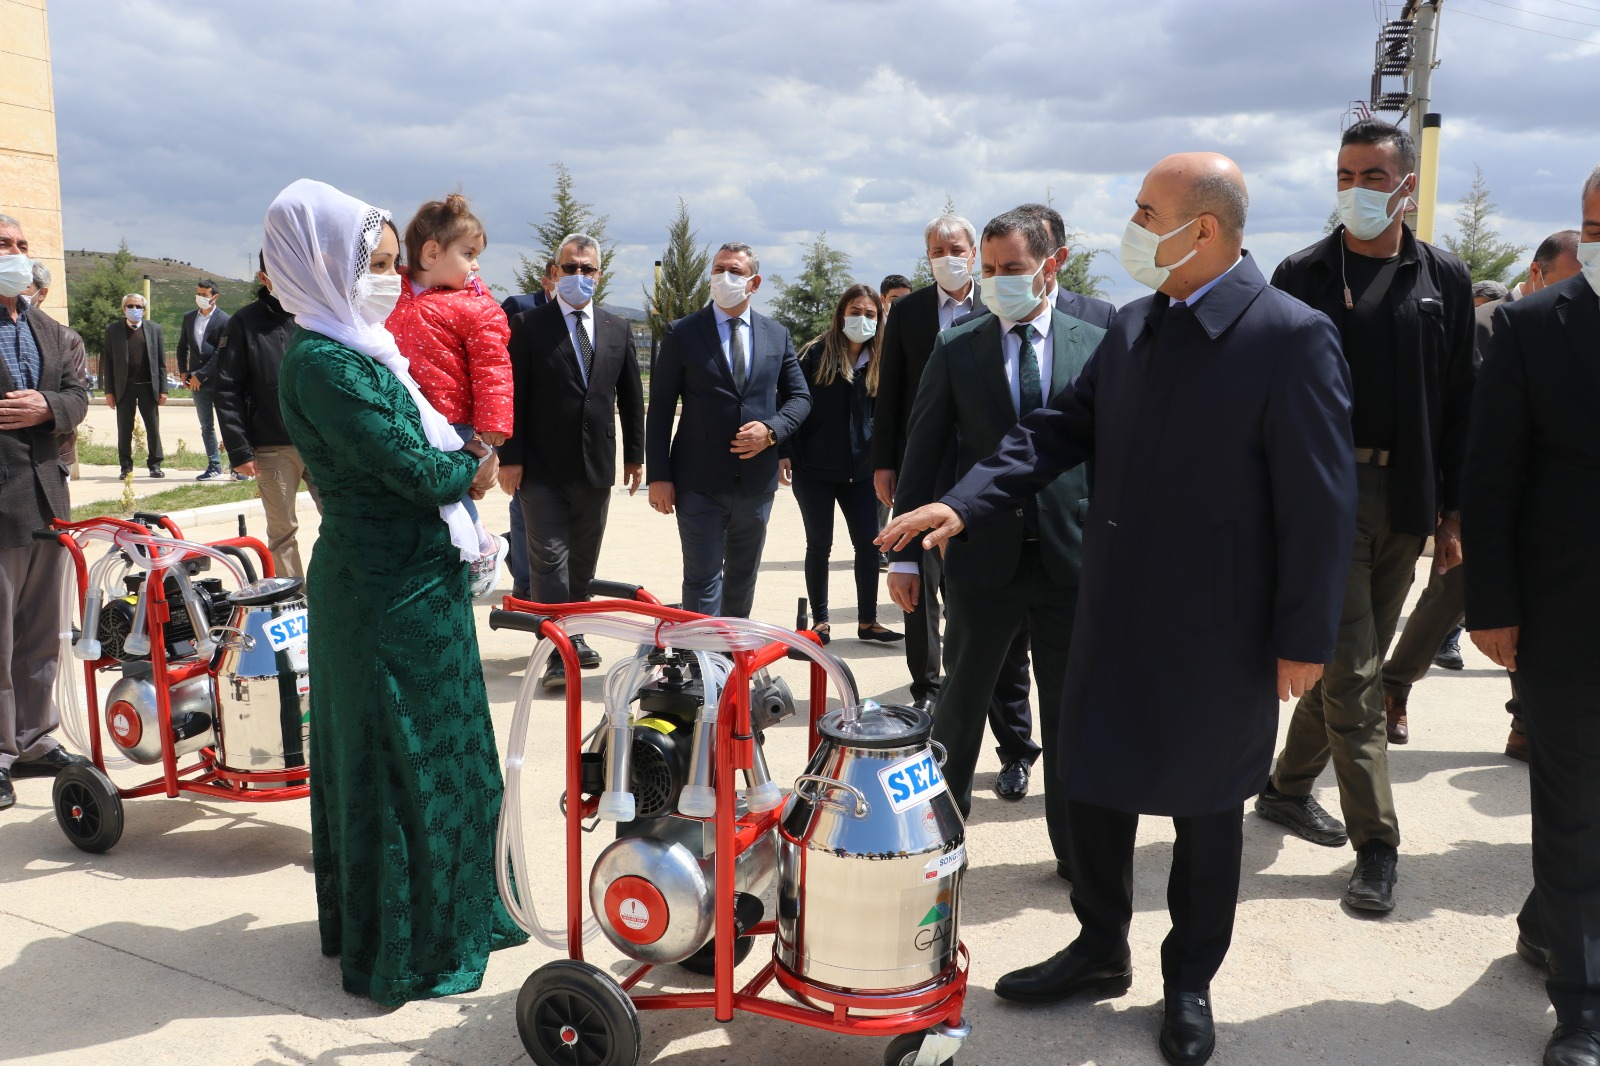
[[(158, 522), (173, 539), (184, 539), (182, 530), (178, 528), (176, 522), (166, 515), (160, 515)], [(82, 624), (88, 597), (88, 560), (85, 559), (83, 546), (78, 543), (75, 535), (88, 530), (110, 530), (149, 536), (150, 530), (138, 522), (125, 522), (122, 519), (109, 517), (88, 519), (86, 522), (56, 520), (51, 523), (51, 528), (56, 530), (56, 541), (66, 547), (67, 554), (72, 557), (74, 573), (78, 581), (78, 623)], [(261, 560), (261, 576), (275, 576), (272, 568), (272, 552), (269, 552), (267, 546), (253, 536), (230, 536), (221, 541), (211, 541), (206, 547), (240, 547), (253, 551)], [(166, 567), (158, 567), (150, 573), (157, 575), (165, 571)], [(208, 674), (211, 666), (210, 663), (200, 661), (173, 666), (166, 661), (165, 627), (168, 619), (171, 619), (171, 608), (166, 603), (165, 586), (165, 579), (146, 581), (144, 586), (146, 618), (150, 627), (150, 675), (155, 683), (157, 725), (162, 731), (162, 776), (131, 787), (117, 786), (117, 795), (122, 799), (139, 799), (144, 795), (165, 795), (168, 799), (176, 799), (179, 792), (192, 792), (195, 795), (230, 799), (246, 804), (280, 804), (283, 800), (306, 799), (310, 795), (310, 783), (307, 779), (309, 770), (306, 767), (259, 771), (229, 770), (218, 763), (216, 749), (213, 747), (202, 747), (198, 752), (200, 759), (197, 762), (187, 767), (178, 765), (178, 751), (173, 744), (171, 687), (189, 680), (190, 677)], [(85, 696), (90, 715), (90, 760), (101, 770), (101, 773), (106, 773), (106, 751), (101, 741), (104, 720), (101, 717), (99, 685), (96, 683), (96, 677), (99, 671), (112, 666), (117, 666), (117, 659), (109, 656), (83, 664)], [(251, 784), (280, 784), (280, 787), (251, 789), (248, 787)]]

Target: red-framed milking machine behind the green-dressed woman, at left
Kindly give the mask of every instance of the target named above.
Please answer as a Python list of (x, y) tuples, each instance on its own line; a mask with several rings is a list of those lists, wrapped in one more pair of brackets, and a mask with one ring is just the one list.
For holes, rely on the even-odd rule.
[[(192, 792), (259, 804), (310, 794), (302, 581), (275, 578), (266, 546), (243, 535), (243, 519), (240, 527), (237, 538), (198, 544), (166, 515), (136, 514), (34, 535), (72, 559), (62, 624), (75, 615), (78, 626), (62, 634), (56, 691), (67, 739), (93, 765), (56, 776), (54, 807), (85, 852), (117, 844), (125, 799)], [(107, 549), (90, 563), (94, 544)], [(213, 567), (232, 581), (210, 576)], [(83, 663), (86, 706), (70, 658)], [(120, 677), (102, 706), (106, 672)], [(187, 755), (195, 762), (179, 765)], [(160, 776), (117, 787), (107, 767), (125, 762), (158, 763)]]

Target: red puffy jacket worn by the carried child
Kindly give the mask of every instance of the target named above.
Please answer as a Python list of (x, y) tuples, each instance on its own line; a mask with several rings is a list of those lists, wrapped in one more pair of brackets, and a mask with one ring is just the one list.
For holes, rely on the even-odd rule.
[[(402, 267), (402, 274), (405, 269)], [(400, 303), (384, 323), (427, 402), (454, 424), (506, 434), (514, 427), (510, 325), (477, 275), (466, 288), (411, 293), (400, 283)]]

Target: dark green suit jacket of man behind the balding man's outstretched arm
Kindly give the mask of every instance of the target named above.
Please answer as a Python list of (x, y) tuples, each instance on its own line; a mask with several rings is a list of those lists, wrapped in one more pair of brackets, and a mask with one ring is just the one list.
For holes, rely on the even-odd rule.
[[(1059, 311), (1050, 322), (1051, 395), (1064, 392), (1078, 376), (1106, 331)], [(1048, 400), (1048, 397), (1046, 397)], [(894, 490), (894, 511), (906, 514), (939, 498), (942, 467), (955, 447), (957, 477), (987, 458), (1016, 426), (1016, 403), (1005, 378), (1000, 349), (1000, 320), (992, 314), (952, 327), (934, 341), (928, 368), (917, 391), (910, 416), (906, 464)], [(1088, 512), (1090, 480), (1080, 466), (1038, 490), (1038, 543), (1045, 571), (1058, 584), (1075, 586), (1083, 562), (1083, 517)], [(912, 541), (894, 552), (910, 562), (922, 552)], [(944, 573), (976, 584), (1002, 586), (1016, 578), (1022, 557), (1022, 506), (974, 528), (952, 543)]]

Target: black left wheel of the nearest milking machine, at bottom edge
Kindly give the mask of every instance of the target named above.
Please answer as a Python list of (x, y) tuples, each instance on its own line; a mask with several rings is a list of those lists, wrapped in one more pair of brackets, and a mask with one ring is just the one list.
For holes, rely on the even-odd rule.
[(522, 983), (517, 1032), (539, 1066), (638, 1066), (638, 1010), (616, 981), (574, 959)]

